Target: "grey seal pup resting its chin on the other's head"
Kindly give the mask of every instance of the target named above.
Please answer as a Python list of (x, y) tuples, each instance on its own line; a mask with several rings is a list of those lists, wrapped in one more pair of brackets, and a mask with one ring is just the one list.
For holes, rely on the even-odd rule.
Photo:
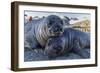
[(49, 15), (32, 20), (24, 25), (24, 48), (44, 47), (50, 36), (63, 32), (63, 21), (59, 16)]

